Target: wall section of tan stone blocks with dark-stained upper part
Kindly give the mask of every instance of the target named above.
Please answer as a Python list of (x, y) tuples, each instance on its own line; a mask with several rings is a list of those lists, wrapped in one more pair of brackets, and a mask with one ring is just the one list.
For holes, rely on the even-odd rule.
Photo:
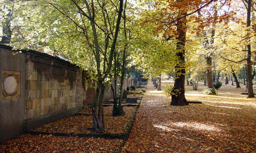
[[(79, 68), (60, 58), (34, 50), (26, 52), (25, 131), (74, 115)], [(78, 75), (79, 76), (79, 75)], [(77, 103), (76, 103), (76, 100)], [(77, 104), (77, 107), (76, 107)]]

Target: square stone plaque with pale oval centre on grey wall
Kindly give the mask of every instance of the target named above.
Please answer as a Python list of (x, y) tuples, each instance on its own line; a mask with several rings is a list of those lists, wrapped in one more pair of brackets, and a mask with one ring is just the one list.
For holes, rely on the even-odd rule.
[(20, 77), (21, 72), (2, 72), (2, 99), (20, 98)]

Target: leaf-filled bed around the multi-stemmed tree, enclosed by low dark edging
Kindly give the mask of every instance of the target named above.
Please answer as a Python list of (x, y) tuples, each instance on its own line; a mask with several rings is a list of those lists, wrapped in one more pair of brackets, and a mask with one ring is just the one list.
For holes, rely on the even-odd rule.
[[(124, 107), (125, 115), (112, 116), (113, 107), (104, 107), (105, 133), (123, 133), (130, 122), (135, 107)], [(49, 133), (92, 133), (91, 109), (80, 112), (82, 115), (63, 118), (62, 120), (45, 124), (34, 131)], [(85, 115), (84, 115), (85, 114)]]

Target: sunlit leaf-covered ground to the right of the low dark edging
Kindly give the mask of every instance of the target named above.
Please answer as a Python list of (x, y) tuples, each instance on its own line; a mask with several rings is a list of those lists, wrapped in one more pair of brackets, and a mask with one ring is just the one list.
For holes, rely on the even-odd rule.
[(186, 88), (189, 101), (203, 104), (169, 106), (150, 84), (122, 152), (256, 152), (256, 98), (233, 87), (218, 96), (204, 95), (203, 85)]

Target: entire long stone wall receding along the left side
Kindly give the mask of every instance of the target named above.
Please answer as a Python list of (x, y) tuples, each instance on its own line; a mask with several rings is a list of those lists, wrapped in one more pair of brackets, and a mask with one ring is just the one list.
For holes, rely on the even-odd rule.
[[(89, 88), (86, 72), (61, 58), (0, 44), (0, 73), (0, 142), (93, 104), (96, 82)], [(129, 82), (124, 80), (123, 89)], [(107, 87), (105, 100), (112, 98)]]

